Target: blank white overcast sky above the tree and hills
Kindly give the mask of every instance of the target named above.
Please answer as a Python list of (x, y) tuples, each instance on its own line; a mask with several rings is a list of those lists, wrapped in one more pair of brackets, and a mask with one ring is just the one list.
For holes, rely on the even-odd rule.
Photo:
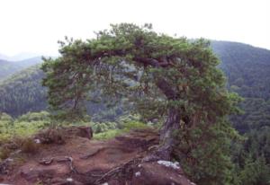
[(269, 0), (0, 0), (0, 53), (56, 55), (64, 36), (89, 39), (117, 22), (270, 49)]

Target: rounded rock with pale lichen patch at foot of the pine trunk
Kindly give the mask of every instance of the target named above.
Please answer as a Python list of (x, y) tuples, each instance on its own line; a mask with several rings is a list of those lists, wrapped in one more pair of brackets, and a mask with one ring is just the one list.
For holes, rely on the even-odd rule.
[(131, 179), (132, 185), (194, 185), (184, 177), (182, 169), (177, 163), (157, 162), (140, 163), (134, 169)]

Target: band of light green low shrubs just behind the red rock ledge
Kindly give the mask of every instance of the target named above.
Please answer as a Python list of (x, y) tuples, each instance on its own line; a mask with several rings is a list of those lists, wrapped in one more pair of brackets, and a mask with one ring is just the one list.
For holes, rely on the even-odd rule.
[[(94, 131), (94, 139), (104, 140), (129, 132), (130, 129), (153, 128), (140, 121), (138, 115), (121, 117), (115, 122), (62, 122), (58, 126), (91, 126)], [(31, 136), (41, 129), (55, 127), (49, 118), (49, 112), (29, 112), (18, 119), (13, 119), (5, 113), (0, 117), (0, 159), (9, 157), (15, 149), (22, 149), (23, 153), (35, 154), (39, 150)], [(13, 145), (13, 146), (11, 146)], [(8, 147), (6, 147), (8, 146)], [(11, 148), (9, 148), (11, 146)]]

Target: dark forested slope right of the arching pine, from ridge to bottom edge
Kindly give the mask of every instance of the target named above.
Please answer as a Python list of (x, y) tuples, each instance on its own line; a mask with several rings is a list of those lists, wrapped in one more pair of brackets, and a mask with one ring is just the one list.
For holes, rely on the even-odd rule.
[[(270, 173), (270, 51), (246, 44), (212, 41), (228, 88), (244, 100), (241, 115), (230, 120), (245, 137), (232, 147), (240, 184), (268, 184)], [(268, 181), (268, 183), (267, 183)]]

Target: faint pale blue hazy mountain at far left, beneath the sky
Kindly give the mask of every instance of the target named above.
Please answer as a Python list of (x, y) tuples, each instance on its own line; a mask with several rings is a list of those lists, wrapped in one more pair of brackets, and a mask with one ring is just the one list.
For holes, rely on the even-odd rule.
[(0, 81), (14, 75), (29, 66), (34, 66), (42, 62), (41, 57), (31, 57), (21, 61), (6, 61), (0, 59)]

